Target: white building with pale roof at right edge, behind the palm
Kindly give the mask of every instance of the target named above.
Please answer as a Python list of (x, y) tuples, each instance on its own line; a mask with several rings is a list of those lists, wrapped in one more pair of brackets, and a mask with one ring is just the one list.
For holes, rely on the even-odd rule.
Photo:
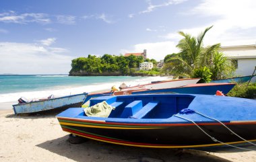
[(256, 67), (256, 45), (222, 46), (220, 52), (236, 65), (236, 75), (252, 75)]

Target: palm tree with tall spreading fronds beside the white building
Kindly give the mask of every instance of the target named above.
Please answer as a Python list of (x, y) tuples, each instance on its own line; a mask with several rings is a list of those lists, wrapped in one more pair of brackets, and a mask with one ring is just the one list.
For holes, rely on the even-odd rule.
[(170, 58), (168, 64), (166, 64), (166, 66), (174, 65), (174, 67), (165, 67), (165, 69), (169, 69), (173, 75), (191, 77), (194, 69), (210, 65), (212, 55), (220, 48), (220, 44), (203, 47), (203, 38), (211, 28), (212, 26), (206, 28), (197, 38), (179, 32), (183, 36), (183, 39), (177, 44), (180, 52), (177, 56)]

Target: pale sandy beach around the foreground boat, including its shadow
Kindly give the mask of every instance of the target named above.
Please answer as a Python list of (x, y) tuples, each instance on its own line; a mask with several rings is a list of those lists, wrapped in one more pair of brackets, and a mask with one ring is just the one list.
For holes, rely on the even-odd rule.
[(0, 113), (0, 161), (256, 161), (256, 151), (146, 149), (95, 140), (73, 145), (55, 118), (59, 112), (30, 116), (16, 116), (12, 110)]

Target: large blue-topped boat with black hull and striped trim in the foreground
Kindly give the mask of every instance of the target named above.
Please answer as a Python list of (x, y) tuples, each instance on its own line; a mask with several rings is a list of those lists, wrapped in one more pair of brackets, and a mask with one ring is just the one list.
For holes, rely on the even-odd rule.
[(131, 147), (204, 149), (256, 141), (255, 99), (119, 95), (93, 98), (90, 109), (104, 102), (114, 107), (107, 117), (88, 116), (89, 108), (69, 108), (57, 115), (61, 128), (76, 136)]

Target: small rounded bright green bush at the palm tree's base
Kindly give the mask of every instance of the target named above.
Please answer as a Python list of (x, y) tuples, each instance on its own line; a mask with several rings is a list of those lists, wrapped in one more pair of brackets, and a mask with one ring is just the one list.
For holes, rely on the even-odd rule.
[(198, 83), (209, 83), (211, 81), (212, 72), (207, 67), (201, 67), (199, 69), (195, 69), (192, 77), (201, 78)]

